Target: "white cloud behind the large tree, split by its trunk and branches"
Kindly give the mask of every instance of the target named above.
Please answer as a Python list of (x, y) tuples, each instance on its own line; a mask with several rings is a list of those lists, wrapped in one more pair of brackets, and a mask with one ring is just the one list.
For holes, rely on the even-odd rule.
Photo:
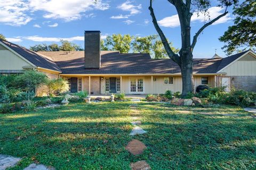
[[(221, 15), (223, 13), (223, 10), (224, 10), (223, 8), (219, 6), (215, 6), (215, 7), (210, 7), (208, 9), (207, 11), (208, 15), (207, 13), (205, 14), (204, 12), (199, 12), (199, 13), (194, 12), (191, 17), (191, 22), (208, 22), (216, 18), (217, 16)], [(221, 19), (219, 19), (218, 21), (214, 22), (213, 25), (225, 23), (229, 20), (231, 20), (230, 14), (227, 14), (223, 16)], [(178, 27), (180, 25), (179, 16), (178, 14), (172, 15), (158, 21), (158, 23), (163, 27), (171, 27), (171, 28)]]

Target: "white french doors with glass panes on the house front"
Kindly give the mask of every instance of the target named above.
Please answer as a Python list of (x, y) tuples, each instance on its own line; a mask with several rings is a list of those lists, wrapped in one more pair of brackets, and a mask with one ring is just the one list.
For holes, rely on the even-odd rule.
[(143, 78), (130, 78), (130, 94), (143, 94), (144, 93), (144, 79)]

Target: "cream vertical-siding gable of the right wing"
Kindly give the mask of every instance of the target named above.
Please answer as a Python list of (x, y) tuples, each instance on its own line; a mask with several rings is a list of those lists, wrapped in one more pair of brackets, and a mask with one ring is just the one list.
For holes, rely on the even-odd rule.
[(255, 76), (256, 75), (256, 55), (249, 51), (237, 58), (234, 62), (224, 67), (221, 72), (228, 76)]

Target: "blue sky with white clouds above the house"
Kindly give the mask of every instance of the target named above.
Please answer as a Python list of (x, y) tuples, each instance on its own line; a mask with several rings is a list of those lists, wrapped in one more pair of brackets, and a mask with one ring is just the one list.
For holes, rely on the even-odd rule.
[[(215, 0), (213, 2), (216, 2)], [(157, 34), (148, 10), (149, 0), (0, 0), (0, 33), (7, 40), (29, 48), (36, 44), (59, 43), (69, 40), (84, 46), (85, 30), (100, 30), (101, 38), (113, 33), (148, 36)], [(177, 11), (166, 0), (153, 1), (153, 8), (166, 37), (180, 48), (181, 36)], [(191, 18), (191, 37), (202, 25), (223, 13), (212, 4), (209, 15), (194, 13)], [(207, 27), (198, 37), (194, 58), (226, 57), (224, 45), (218, 38), (233, 25), (229, 13)]]

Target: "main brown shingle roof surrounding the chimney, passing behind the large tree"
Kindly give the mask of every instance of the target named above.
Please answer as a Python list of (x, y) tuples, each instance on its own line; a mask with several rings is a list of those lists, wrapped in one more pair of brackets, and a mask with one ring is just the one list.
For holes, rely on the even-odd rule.
[[(175, 74), (180, 67), (170, 59), (153, 60), (149, 54), (102, 51), (100, 69), (84, 69), (84, 52), (38, 52), (52, 58), (62, 74)], [(194, 59), (194, 73), (216, 73), (221, 59)]]

